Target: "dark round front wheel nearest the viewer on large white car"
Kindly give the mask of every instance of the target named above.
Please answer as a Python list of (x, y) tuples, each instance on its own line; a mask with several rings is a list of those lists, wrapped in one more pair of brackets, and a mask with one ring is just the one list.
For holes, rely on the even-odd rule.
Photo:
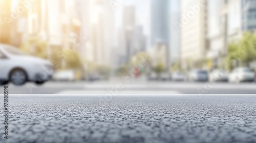
[(27, 74), (22, 69), (15, 69), (10, 74), (10, 81), (15, 85), (23, 85), (27, 81)]

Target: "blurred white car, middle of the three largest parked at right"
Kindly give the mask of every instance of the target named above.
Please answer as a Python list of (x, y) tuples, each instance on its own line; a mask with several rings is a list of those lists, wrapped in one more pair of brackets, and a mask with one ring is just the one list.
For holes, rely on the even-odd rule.
[(215, 69), (209, 74), (211, 82), (228, 82), (228, 74), (222, 69)]

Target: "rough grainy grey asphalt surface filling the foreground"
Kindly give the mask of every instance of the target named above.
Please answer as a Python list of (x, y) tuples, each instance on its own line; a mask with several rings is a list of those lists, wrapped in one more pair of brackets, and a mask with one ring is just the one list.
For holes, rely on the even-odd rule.
[(12, 97), (9, 104), (9, 139), (2, 122), (0, 142), (256, 142), (256, 98)]

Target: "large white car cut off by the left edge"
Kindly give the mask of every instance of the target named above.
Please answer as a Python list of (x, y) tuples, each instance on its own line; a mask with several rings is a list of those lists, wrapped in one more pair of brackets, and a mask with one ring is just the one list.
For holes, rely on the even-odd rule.
[(0, 44), (0, 84), (9, 81), (23, 85), (27, 81), (42, 84), (52, 76), (52, 65), (49, 61), (29, 56), (16, 47)]

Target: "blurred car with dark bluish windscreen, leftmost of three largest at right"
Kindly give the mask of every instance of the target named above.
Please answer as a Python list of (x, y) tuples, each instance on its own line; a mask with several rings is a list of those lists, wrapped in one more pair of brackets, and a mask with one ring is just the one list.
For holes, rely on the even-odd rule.
[(193, 70), (189, 73), (189, 81), (208, 81), (208, 73), (206, 70)]

